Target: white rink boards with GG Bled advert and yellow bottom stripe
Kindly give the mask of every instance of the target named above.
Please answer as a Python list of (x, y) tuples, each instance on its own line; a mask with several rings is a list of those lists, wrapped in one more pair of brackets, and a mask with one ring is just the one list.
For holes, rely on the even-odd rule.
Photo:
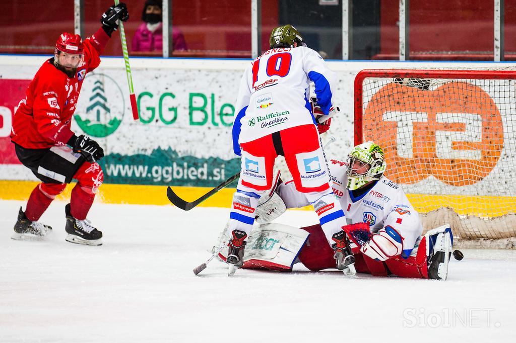
[[(0, 182), (0, 198), (3, 199), (25, 200), (37, 181), (30, 170), (19, 163), (9, 134), (12, 114), (24, 97), (26, 85), (47, 58), (0, 56), (0, 89), (3, 90), (0, 92), (0, 180), (9, 180)], [(234, 102), (241, 73), (249, 62), (132, 58), (140, 113), (139, 121), (133, 121), (123, 59), (103, 58), (101, 66), (86, 76), (72, 119), (74, 132), (90, 135), (104, 147), (106, 156), (99, 161), (104, 170), (99, 198), (106, 203), (167, 204), (166, 186), (171, 185), (186, 200), (195, 200), (235, 174), (240, 160), (232, 151)], [(354, 124), (352, 85), (359, 71), (365, 68), (492, 68), (508, 64), (329, 61), (328, 65), (338, 77), (334, 102), (340, 106), (341, 113), (326, 134), (336, 138), (326, 151), (330, 159), (345, 160), (353, 145), (350, 134)], [(504, 112), (502, 119), (504, 146), (512, 146), (516, 123)], [(504, 213), (516, 212), (512, 188), (502, 188), (500, 193), (497, 186), (512, 178), (511, 166), (516, 165), (516, 158), (509, 151), (502, 151), (501, 156), (493, 172), (480, 182), (456, 187), (428, 177), (420, 182), (431, 185), (427, 189), (439, 190), (436, 191), (439, 194), (413, 195), (410, 199), (420, 212), (440, 208), (449, 200), (460, 204), (460, 208), (456, 208), (459, 214), (500, 215), (493, 204), (504, 204)], [(284, 165), (280, 168), (285, 169)], [(509, 172), (501, 173), (503, 170)], [(288, 175), (283, 173), (283, 178), (288, 179)], [(409, 194), (417, 192), (417, 184), (402, 186)], [(202, 205), (227, 207), (232, 192), (230, 188), (222, 190)], [(480, 197), (474, 200), (472, 196), (476, 194)], [(63, 197), (66, 198), (67, 193)]]

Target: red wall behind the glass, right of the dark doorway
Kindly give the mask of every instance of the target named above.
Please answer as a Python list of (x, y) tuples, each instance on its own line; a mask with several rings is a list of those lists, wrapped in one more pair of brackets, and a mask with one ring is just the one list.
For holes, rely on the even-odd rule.
[[(398, 0), (380, 3), (380, 52), (398, 56)], [(516, 52), (516, 0), (505, 0), (505, 50)], [(410, 52), (493, 52), (494, 5), (483, 0), (410, 2)]]

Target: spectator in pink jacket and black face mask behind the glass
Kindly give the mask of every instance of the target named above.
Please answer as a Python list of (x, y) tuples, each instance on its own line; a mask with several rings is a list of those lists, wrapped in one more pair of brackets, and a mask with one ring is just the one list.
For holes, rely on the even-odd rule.
[[(162, 1), (147, 0), (141, 13), (143, 23), (133, 37), (133, 52), (163, 50)], [(172, 27), (173, 50), (186, 50), (186, 43), (180, 29)]]

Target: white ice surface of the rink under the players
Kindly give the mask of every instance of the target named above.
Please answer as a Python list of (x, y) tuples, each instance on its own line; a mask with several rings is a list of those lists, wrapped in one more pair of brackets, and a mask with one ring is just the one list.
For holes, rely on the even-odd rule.
[[(494, 342), (516, 336), (516, 251), (463, 250), (446, 282), (238, 270), (212, 261), (229, 211), (93, 205), (104, 245), (10, 239), (20, 205), (0, 200), (0, 342)], [(308, 211), (279, 222), (314, 224)], [(421, 326), (418, 326), (421, 325)]]

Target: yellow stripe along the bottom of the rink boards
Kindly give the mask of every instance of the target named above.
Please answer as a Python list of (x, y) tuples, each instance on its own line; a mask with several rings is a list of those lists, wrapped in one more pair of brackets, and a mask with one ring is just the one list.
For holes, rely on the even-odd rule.
[[(38, 182), (0, 180), (0, 198), (6, 200), (27, 200), (30, 192)], [(70, 192), (74, 184), (67, 186), (57, 199), (70, 199)], [(174, 192), (186, 201), (193, 201), (206, 194), (210, 187), (183, 187), (174, 186)], [(224, 188), (214, 196), (202, 202), (201, 207), (229, 208), (234, 188)], [(427, 195), (407, 194), (414, 208), (420, 213), (427, 213), (441, 207), (454, 208), (460, 215), (476, 215), (480, 217), (496, 217), (509, 212), (516, 213), (516, 197), (494, 196), (464, 196), (464, 195)], [(128, 203), (166, 205), (170, 204), (167, 198), (167, 186), (103, 184), (99, 189), (96, 201), (104, 203)], [(305, 207), (312, 210), (312, 207)]]

